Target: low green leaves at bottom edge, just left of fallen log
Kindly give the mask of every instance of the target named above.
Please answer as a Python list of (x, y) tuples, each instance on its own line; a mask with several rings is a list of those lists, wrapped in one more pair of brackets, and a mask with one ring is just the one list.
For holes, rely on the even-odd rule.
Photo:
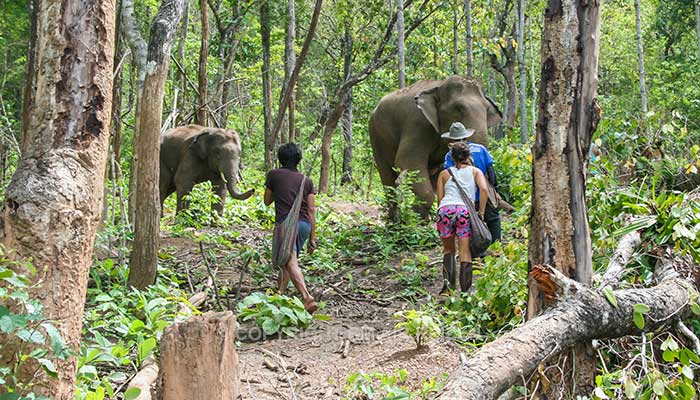
[(350, 374), (344, 388), (345, 400), (422, 400), (433, 398), (447, 382), (447, 374), (424, 379), (420, 388), (410, 391), (405, 385), (408, 371), (393, 374), (355, 372)]

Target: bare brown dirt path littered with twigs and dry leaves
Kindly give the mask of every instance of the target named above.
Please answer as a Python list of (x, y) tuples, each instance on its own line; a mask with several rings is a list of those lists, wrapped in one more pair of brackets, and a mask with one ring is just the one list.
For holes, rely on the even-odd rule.
[[(361, 206), (358, 210), (357, 204), (338, 202), (329, 207), (337, 213), (359, 211), (376, 219), (381, 215), (379, 208), (372, 206)], [(204, 233), (207, 230), (215, 233), (217, 229), (205, 228)], [(240, 231), (238, 240), (258, 246), (266, 243), (270, 235), (268, 231), (250, 227), (240, 227)], [(219, 288), (231, 288), (231, 296), (239, 291), (240, 297), (244, 297), (274, 285), (274, 276), (262, 283), (258, 279), (256, 283), (254, 276), (244, 271), (239, 262), (211, 260), (210, 274), (198, 243), (192, 239), (164, 237), (161, 246), (174, 257), (177, 265), (190, 265), (192, 270), (188, 270), (187, 275), (193, 277), (189, 282), (192, 288), (198, 286), (197, 276), (200, 287), (212, 286), (208, 278), (211, 275), (215, 275)], [(215, 253), (219, 250), (225, 249), (217, 248)], [(429, 255), (431, 260), (438, 259), (437, 248)], [(454, 370), (460, 363), (461, 349), (457, 345), (441, 337), (416, 349), (411, 337), (394, 329), (397, 321), (393, 314), (404, 308), (415, 308), (397, 295), (403, 287), (391, 270), (398, 268), (406, 257), (411, 254), (397, 254), (395, 259), (387, 260), (383, 268), (374, 268), (372, 263), (365, 264), (362, 260), (349, 261), (347, 268), (332, 276), (307, 277), (312, 294), (325, 303), (317, 313), (328, 315), (330, 319), (314, 320), (309, 328), (294, 337), (260, 339), (260, 335), (255, 334), (259, 331), (250, 329), (253, 325), (239, 321), (241, 398), (339, 399), (343, 398), (347, 378), (358, 372), (393, 374), (403, 369), (408, 372), (403, 385), (411, 389), (420, 387), (426, 378), (445, 379), (444, 373)], [(431, 282), (424, 282), (424, 286), (435, 296), (441, 283), (435, 277)], [(298, 295), (295, 290), (291, 294)], [(427, 297), (424, 300), (427, 301)], [(216, 300), (210, 295), (208, 301), (213, 305)], [(226, 300), (221, 299), (221, 302)]]

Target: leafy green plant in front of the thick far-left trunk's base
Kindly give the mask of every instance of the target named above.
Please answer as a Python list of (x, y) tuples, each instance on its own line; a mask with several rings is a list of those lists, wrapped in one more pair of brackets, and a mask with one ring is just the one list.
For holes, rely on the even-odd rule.
[[(28, 291), (36, 289), (32, 286), (35, 275), (30, 262), (14, 261), (0, 247), (0, 351), (8, 354), (9, 349), (12, 355), (0, 367), (0, 386), (6, 393), (3, 399), (48, 400), (31, 392), (34, 378), (39, 370), (56, 378), (53, 360), (65, 360), (72, 354), (53, 321), (44, 315), (41, 302), (29, 297)], [(19, 371), (27, 368), (34, 368), (35, 374), (23, 380)]]

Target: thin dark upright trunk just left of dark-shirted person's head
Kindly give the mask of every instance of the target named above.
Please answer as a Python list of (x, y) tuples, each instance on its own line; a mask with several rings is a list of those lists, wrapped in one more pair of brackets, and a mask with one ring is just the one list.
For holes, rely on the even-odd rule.
[(260, 38), (262, 40), (263, 117), (265, 123), (265, 168), (274, 166), (275, 137), (272, 133), (272, 83), (270, 82), (270, 6), (267, 1), (260, 5)]

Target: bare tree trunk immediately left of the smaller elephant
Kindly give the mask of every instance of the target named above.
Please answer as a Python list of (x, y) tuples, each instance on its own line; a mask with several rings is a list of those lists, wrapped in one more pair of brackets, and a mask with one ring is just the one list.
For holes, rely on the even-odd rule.
[(151, 25), (148, 43), (149, 70), (146, 72), (137, 115), (137, 167), (134, 242), (129, 259), (129, 286), (143, 289), (156, 281), (160, 239), (160, 197), (158, 194), (160, 127), (162, 123), (165, 78), (170, 64), (170, 49), (180, 22), (183, 0), (163, 0)]

